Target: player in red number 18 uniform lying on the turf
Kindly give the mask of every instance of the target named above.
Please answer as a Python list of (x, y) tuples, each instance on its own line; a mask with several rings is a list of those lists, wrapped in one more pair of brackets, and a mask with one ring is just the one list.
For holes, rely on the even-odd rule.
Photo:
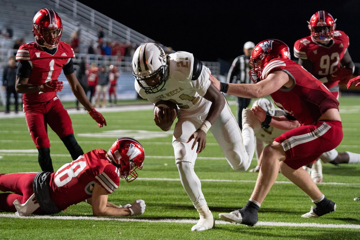
[[(111, 148), (94, 149), (82, 154), (57, 172), (28, 172), (0, 174), (0, 211), (29, 214), (54, 214), (70, 205), (86, 201), (92, 205), (94, 216), (137, 215), (145, 211), (145, 202), (119, 207), (108, 202), (120, 183), (138, 177), (136, 169), (143, 168), (144, 149), (130, 137), (117, 139)], [(13, 192), (13, 193), (6, 193)]]

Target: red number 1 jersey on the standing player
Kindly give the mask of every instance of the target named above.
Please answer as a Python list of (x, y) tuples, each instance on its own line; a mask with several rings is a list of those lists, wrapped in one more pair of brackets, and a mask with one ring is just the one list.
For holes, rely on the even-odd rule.
[[(28, 83), (33, 85), (58, 79), (63, 66), (70, 61), (70, 58), (75, 58), (74, 50), (62, 41), (53, 55), (46, 53), (35, 42), (21, 45), (16, 54), (16, 60), (30, 62), (32, 69)], [(25, 93), (23, 103), (31, 105), (47, 102), (55, 96), (56, 92)]]

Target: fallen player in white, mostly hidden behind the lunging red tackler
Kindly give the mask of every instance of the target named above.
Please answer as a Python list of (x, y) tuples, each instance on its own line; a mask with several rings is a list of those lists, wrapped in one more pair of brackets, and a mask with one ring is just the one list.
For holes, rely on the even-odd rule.
[[(252, 104), (252, 107), (259, 105), (262, 109), (265, 110), (266, 114), (271, 116), (286, 116), (285, 112), (280, 108), (275, 108), (272, 101), (266, 98), (259, 98)], [(294, 122), (294, 125), (297, 125), (297, 121)], [(299, 124), (300, 125), (300, 124)], [(261, 160), (262, 160), (262, 150), (264, 149), (264, 143), (270, 144), (274, 141), (274, 139), (284, 132), (288, 130), (282, 130), (279, 128), (275, 128), (269, 125), (262, 125), (261, 130), (255, 132), (255, 142), (256, 142), (256, 158), (257, 158), (257, 166), (253, 169), (250, 169), (249, 172), (258, 172), (260, 170)], [(323, 153), (319, 157), (324, 163), (332, 163), (334, 165), (340, 163), (358, 163), (360, 162), (360, 154), (351, 153), (348, 151), (339, 153), (336, 149)], [(315, 164), (320, 163), (319, 160), (315, 162)], [(312, 168), (303, 166), (303, 168), (310, 173), (312, 180), (314, 182), (321, 182), (323, 180), (322, 167), (320, 163), (320, 167), (316, 168), (313, 164)], [(320, 169), (320, 171), (318, 171)]]

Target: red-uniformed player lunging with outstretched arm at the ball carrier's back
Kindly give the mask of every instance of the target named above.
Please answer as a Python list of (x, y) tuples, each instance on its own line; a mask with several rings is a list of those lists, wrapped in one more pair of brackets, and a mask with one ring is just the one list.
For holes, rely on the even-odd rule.
[[(302, 217), (320, 217), (335, 211), (336, 204), (325, 198), (302, 166), (341, 142), (339, 102), (320, 81), (315, 81), (301, 65), (290, 60), (289, 47), (282, 41), (268, 39), (258, 43), (249, 63), (253, 65), (250, 77), (253, 81), (261, 80), (256, 84), (213, 83), (219, 90), (243, 98), (271, 95), (274, 103), (289, 117), (266, 115), (262, 108), (254, 108), (253, 114), (262, 124), (289, 131), (264, 148), (256, 185), (246, 206), (231, 213), (220, 213), (219, 217), (233, 223), (255, 225), (260, 205), (279, 171), (315, 203)], [(293, 128), (295, 119), (301, 126)]]

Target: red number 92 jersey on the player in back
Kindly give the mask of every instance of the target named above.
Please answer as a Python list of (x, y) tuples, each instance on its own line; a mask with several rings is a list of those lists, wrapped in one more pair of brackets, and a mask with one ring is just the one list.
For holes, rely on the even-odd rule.
[[(338, 85), (339, 81), (332, 81), (330, 75), (339, 67), (349, 46), (349, 37), (343, 31), (334, 31), (334, 38), (330, 46), (324, 46), (307, 36), (294, 44), (294, 56), (308, 59), (312, 62), (312, 74), (319, 80), (325, 76), (324, 85), (329, 89)], [(329, 82), (328, 82), (329, 81)]]

